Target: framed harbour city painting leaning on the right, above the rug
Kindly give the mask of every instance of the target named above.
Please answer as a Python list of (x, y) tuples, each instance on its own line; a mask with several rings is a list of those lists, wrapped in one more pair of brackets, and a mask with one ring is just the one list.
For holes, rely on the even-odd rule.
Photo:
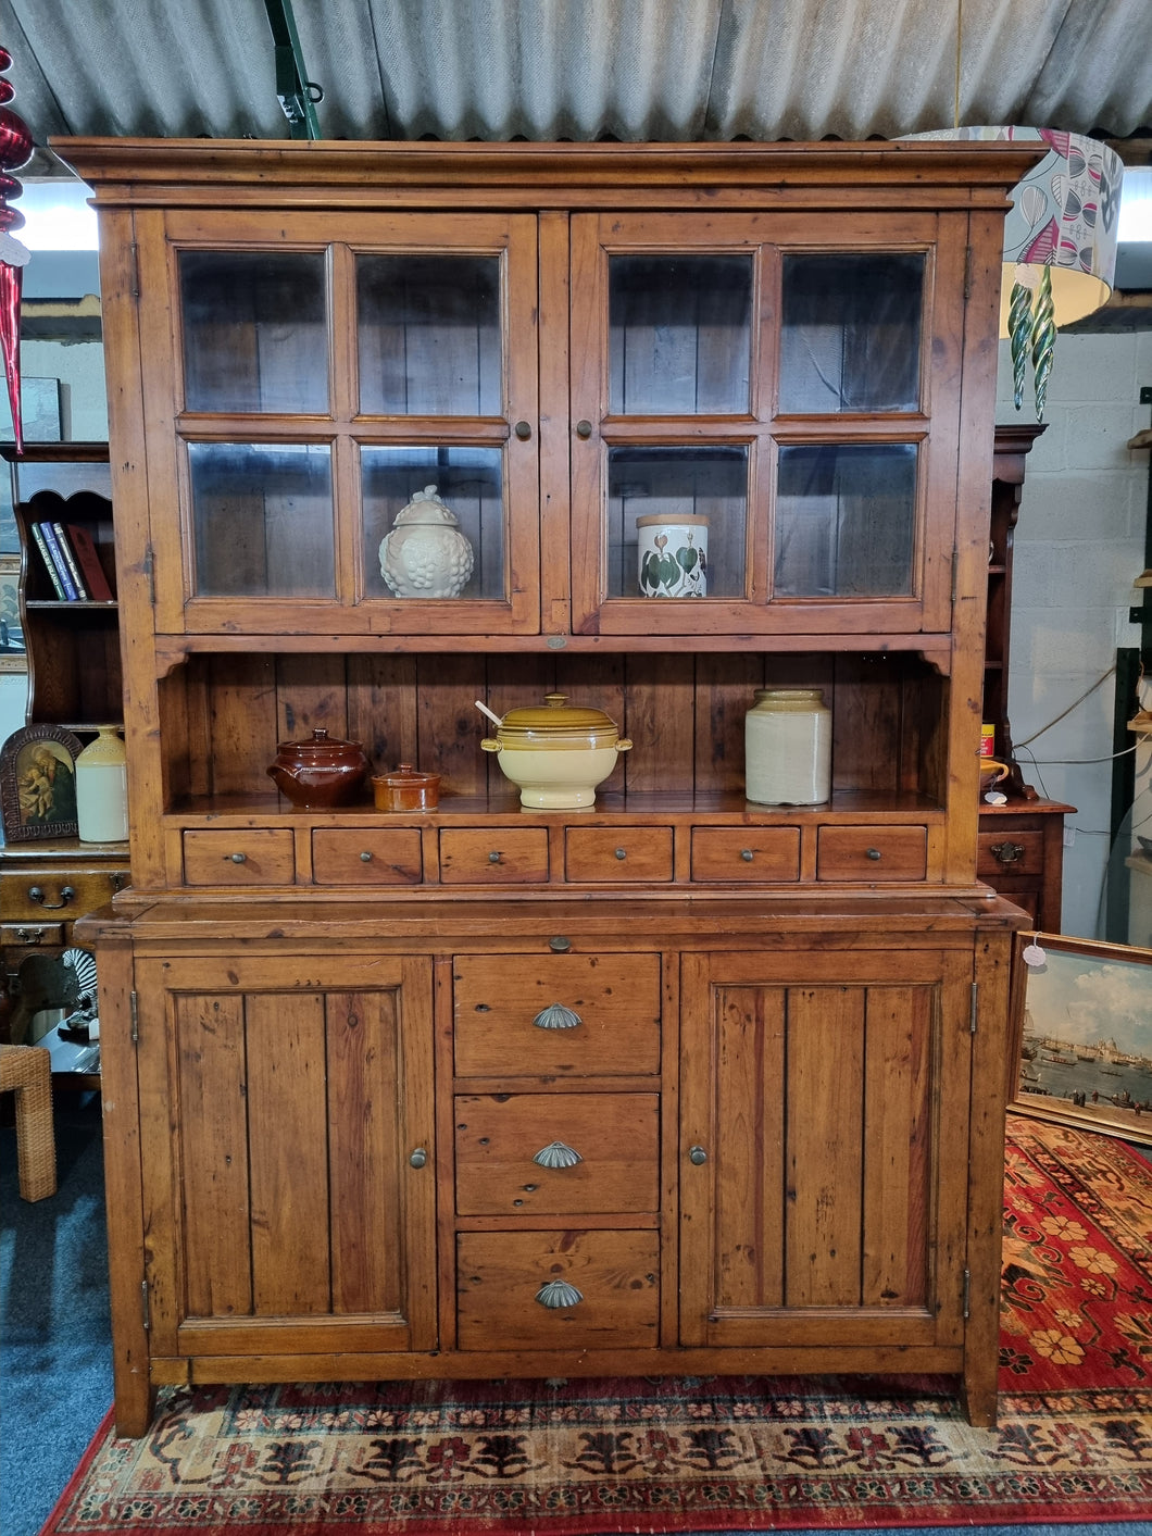
[(1152, 949), (1025, 932), (1017, 962), (1009, 1111), (1152, 1144)]

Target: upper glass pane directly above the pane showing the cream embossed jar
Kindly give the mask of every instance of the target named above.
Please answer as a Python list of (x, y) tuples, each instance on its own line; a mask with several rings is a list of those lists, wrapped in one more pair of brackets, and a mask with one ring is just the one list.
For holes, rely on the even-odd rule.
[(359, 409), (502, 416), (499, 257), (359, 257)]

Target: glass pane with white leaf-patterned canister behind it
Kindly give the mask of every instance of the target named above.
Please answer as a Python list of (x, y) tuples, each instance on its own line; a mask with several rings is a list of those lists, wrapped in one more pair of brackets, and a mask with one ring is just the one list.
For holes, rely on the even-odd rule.
[(745, 594), (746, 449), (610, 449), (607, 515), (610, 596)]

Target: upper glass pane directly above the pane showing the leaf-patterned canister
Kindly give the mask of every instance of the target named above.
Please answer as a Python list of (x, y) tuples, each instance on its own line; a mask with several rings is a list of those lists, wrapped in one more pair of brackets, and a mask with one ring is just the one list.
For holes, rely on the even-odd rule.
[(746, 415), (751, 257), (611, 257), (608, 409)]

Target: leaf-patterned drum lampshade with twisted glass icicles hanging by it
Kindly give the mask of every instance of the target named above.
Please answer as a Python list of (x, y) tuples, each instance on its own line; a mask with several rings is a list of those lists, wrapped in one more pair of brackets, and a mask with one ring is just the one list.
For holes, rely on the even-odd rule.
[(1048, 144), (1044, 158), (1012, 189), (1000, 287), (1000, 335), (1012, 341), (1015, 406), (1031, 350), (1040, 418), (1057, 329), (1112, 295), (1123, 161), (1100, 140), (1051, 127), (948, 127), (902, 137)]

